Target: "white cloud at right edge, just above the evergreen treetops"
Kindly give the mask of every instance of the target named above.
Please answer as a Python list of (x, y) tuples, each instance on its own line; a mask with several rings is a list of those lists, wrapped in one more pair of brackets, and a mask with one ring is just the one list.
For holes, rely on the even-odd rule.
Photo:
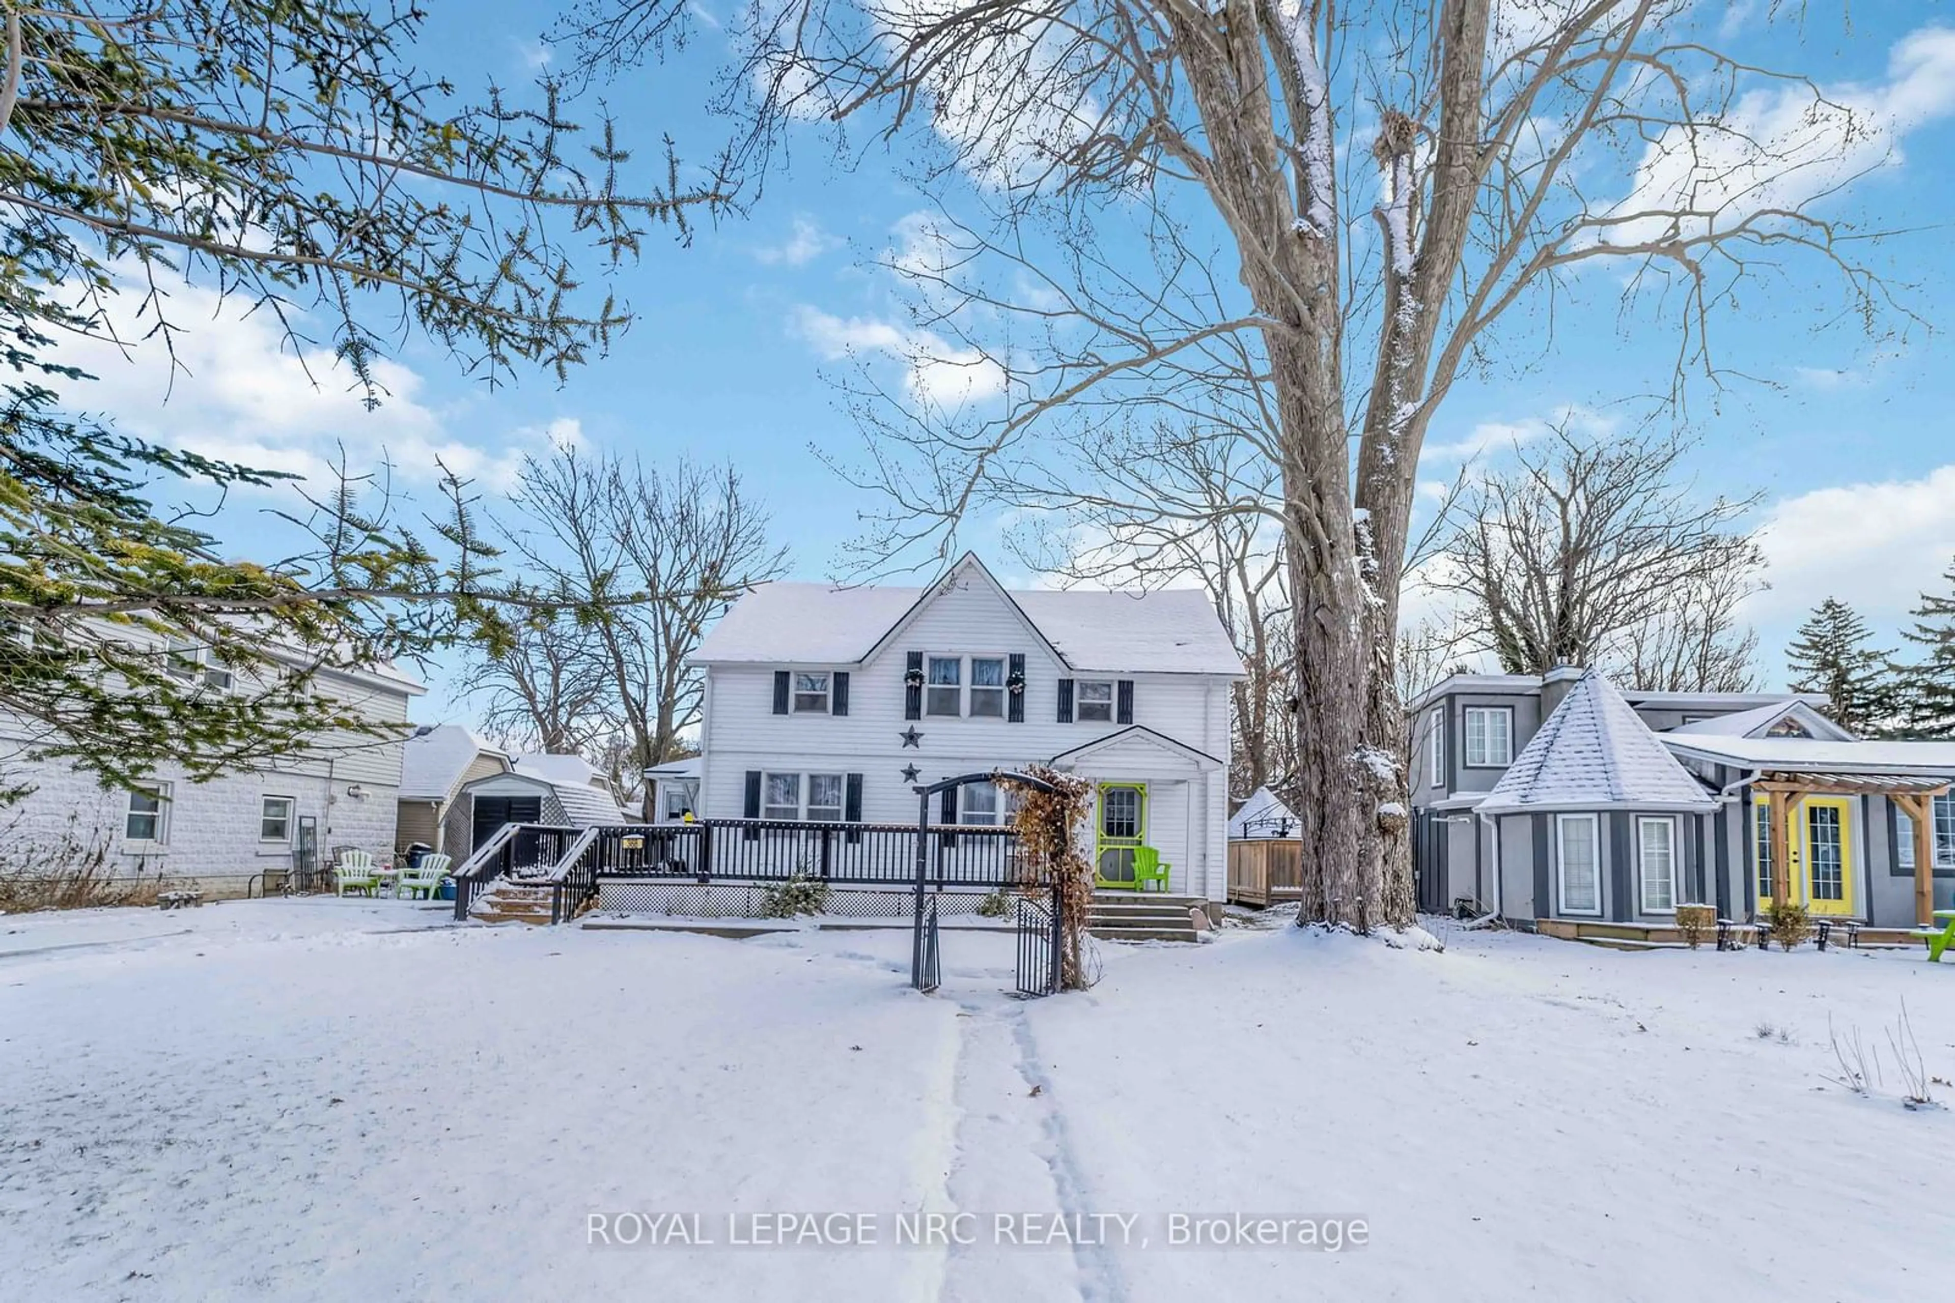
[(1793, 621), (1832, 596), (1869, 623), (1906, 623), (1920, 594), (1943, 588), (1955, 557), (1955, 465), (1785, 498), (1765, 516), (1760, 545), (1771, 588), (1750, 602), (1756, 621)]

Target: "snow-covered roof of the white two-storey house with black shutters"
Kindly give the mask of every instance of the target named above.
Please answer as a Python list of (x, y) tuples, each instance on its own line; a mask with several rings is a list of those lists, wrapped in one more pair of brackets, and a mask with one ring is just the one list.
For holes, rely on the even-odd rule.
[[(989, 578), (972, 555), (952, 572), (966, 567)], [(760, 584), (714, 625), (692, 662), (856, 664), (940, 592), (940, 584)], [(1073, 670), (1241, 676), (1241, 658), (1200, 592), (999, 592)]]

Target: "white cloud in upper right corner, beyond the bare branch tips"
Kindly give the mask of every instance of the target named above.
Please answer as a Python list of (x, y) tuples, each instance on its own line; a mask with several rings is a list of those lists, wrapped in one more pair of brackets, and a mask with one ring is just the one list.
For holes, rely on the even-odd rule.
[[(1801, 209), (1861, 172), (1902, 162), (1908, 131), (1955, 113), (1955, 27), (1920, 27), (1889, 51), (1889, 80), (1775, 84), (1738, 98), (1722, 125), (1672, 127), (1648, 145), (1617, 215), (1687, 207), (1730, 227), (1767, 207)], [(1683, 223), (1695, 234), (1705, 219)], [(1611, 229), (1607, 244), (1662, 236), (1666, 217)]]

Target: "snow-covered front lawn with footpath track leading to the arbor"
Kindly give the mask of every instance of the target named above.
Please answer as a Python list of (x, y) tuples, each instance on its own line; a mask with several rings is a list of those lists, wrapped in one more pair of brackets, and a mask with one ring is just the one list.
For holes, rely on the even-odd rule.
[[(1955, 1078), (1955, 965), (1447, 940), (1105, 947), (1093, 992), (1019, 1002), (1009, 938), (981, 934), (946, 934), (919, 996), (903, 934), (454, 928), (395, 901), (4, 918), (0, 1278), (741, 1303), (1947, 1287), (1955, 1115), (1898, 1104), (1887, 1031), (1904, 998)], [(1885, 1090), (1828, 1080), (1828, 1026), (1879, 1047)], [(978, 1242), (893, 1244), (917, 1209), (976, 1213), (948, 1225)], [(725, 1242), (727, 1213), (764, 1211), (862, 1213), (880, 1242)], [(700, 1213), (719, 1242), (586, 1242), (624, 1213)], [(1015, 1248), (999, 1213), (1136, 1221)], [(1177, 1248), (1173, 1213), (1357, 1217), (1370, 1242)]]

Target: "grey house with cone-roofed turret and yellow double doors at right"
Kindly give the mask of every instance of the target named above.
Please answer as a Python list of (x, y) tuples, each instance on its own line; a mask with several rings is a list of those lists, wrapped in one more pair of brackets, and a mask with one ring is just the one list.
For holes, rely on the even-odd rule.
[[(1799, 694), (1455, 674), (1412, 709), (1419, 908), (1580, 936), (1756, 918), (1904, 930), (1955, 901), (1955, 742), (1863, 740)], [(1783, 865), (1775, 871), (1775, 865)]]

